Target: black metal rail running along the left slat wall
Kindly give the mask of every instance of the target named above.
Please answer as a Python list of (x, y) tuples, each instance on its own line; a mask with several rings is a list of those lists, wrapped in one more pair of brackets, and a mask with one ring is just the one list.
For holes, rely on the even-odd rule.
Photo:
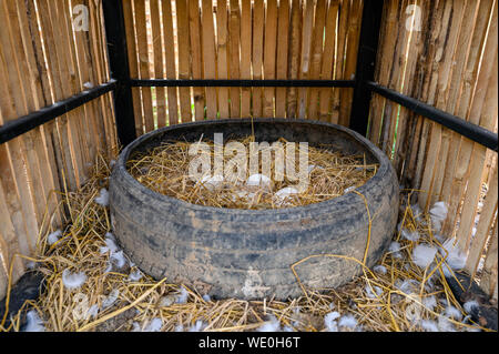
[(30, 130), (40, 127), (69, 111), (72, 111), (116, 88), (118, 81), (111, 79), (109, 82), (100, 84), (90, 90), (80, 92), (65, 100), (42, 108), (30, 114), (20, 117), (0, 127), (0, 144), (8, 142)]

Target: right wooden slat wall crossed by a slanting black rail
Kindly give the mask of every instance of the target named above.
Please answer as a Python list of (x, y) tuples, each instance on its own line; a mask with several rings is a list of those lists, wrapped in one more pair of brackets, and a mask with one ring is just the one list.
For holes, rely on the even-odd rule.
[[(496, 0), (386, 1), (376, 80), (497, 132), (497, 8)], [(448, 203), (442, 234), (457, 237), (468, 272), (497, 296), (497, 153), (377, 94), (368, 136), (400, 181), (420, 190), (421, 208)]]

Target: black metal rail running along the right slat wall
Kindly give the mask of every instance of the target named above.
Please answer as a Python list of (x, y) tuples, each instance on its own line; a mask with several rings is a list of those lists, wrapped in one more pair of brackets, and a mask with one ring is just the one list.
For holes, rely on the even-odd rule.
[(467, 122), (459, 117), (436, 109), (432, 105), (409, 98), (373, 81), (367, 81), (366, 88), (497, 152), (498, 135), (480, 125)]

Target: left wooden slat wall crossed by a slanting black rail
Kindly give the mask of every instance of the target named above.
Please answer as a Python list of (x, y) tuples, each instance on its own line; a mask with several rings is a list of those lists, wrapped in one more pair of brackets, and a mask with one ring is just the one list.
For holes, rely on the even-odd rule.
[[(89, 31), (73, 8), (89, 7)], [(88, 0), (0, 2), (0, 124), (109, 80), (100, 4)], [(98, 152), (115, 151), (110, 93), (0, 145), (0, 299), (32, 255), (40, 234), (70, 215), (55, 191), (77, 190)], [(53, 218), (48, 218), (52, 216)]]

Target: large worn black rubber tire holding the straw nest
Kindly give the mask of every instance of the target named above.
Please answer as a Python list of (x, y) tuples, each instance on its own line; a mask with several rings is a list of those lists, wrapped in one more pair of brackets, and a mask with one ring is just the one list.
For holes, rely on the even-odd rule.
[[(365, 153), (378, 162), (377, 173), (357, 191), (367, 199), (371, 233), (367, 265), (386, 251), (393, 236), (399, 202), (396, 173), (387, 156), (359, 134), (335, 124), (308, 120), (255, 119), (257, 141), (333, 143), (348, 153)], [(125, 169), (136, 151), (164, 140), (198, 141), (222, 132), (224, 138), (247, 136), (248, 119), (179, 124), (142, 135), (119, 156), (110, 181), (114, 233), (144, 272), (155, 279), (195, 286), (218, 299), (296, 297), (302, 289), (291, 265), (318, 254), (363, 260), (368, 216), (364, 199), (349, 192), (306, 206), (278, 210), (234, 210), (194, 205), (151, 191)], [(314, 256), (295, 267), (307, 287), (336, 287), (361, 269), (352, 261)]]

